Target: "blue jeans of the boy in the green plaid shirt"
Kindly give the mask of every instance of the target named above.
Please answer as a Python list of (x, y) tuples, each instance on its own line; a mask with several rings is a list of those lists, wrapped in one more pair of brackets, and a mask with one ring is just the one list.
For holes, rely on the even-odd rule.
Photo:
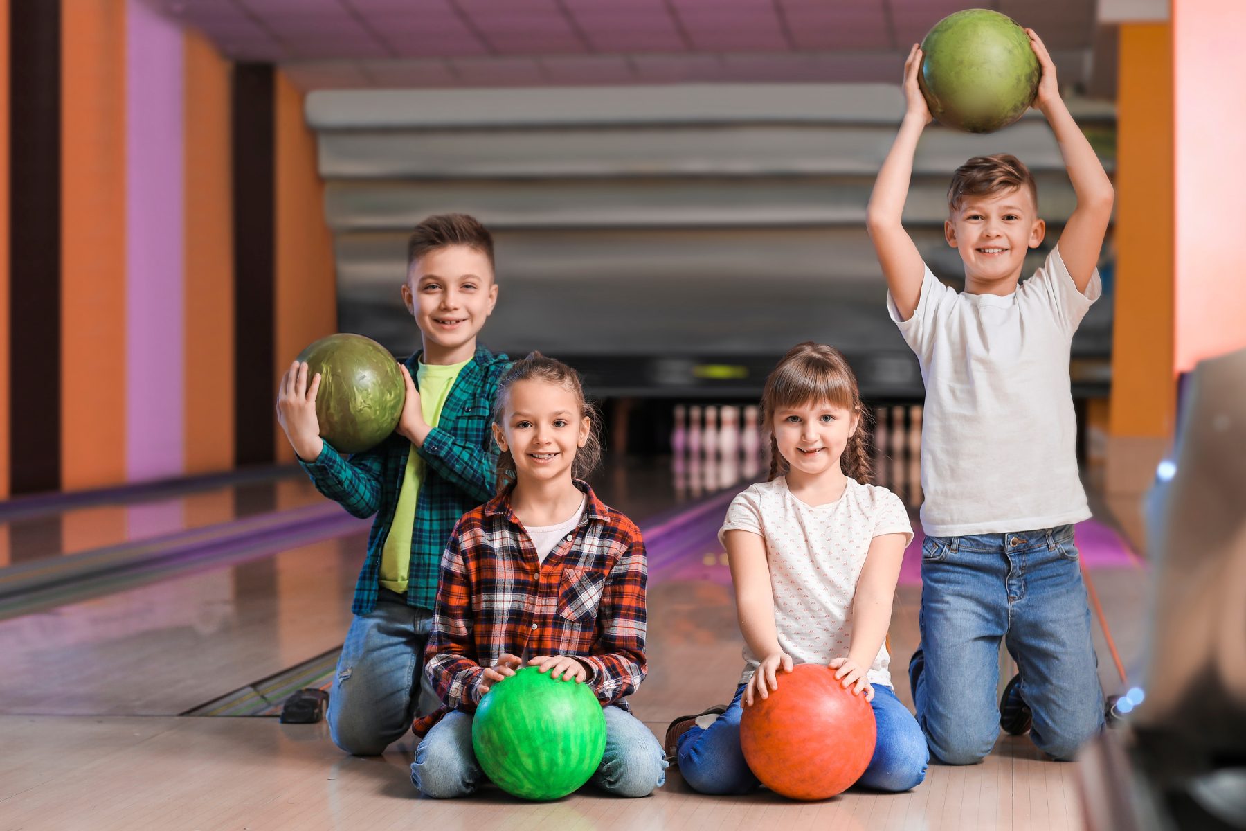
[(355, 615), (329, 693), (329, 735), (356, 756), (376, 756), (436, 709), (424, 675), (432, 613), (381, 589), (376, 608)]

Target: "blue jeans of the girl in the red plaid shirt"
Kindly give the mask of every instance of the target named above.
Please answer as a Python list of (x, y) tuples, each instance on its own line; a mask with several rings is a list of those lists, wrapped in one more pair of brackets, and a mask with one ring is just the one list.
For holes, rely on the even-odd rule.
[[(606, 753), (588, 780), (614, 796), (648, 796), (667, 781), (667, 760), (649, 728), (613, 704), (606, 716)], [(471, 746), (467, 713), (447, 713), (424, 738), (411, 765), (411, 784), (425, 796), (466, 796), (485, 781), (485, 771)]]

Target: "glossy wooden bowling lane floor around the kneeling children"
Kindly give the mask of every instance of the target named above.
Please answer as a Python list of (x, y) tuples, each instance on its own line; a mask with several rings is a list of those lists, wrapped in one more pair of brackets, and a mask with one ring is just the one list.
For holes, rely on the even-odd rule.
[[(743, 663), (714, 538), (720, 513), (704, 512), (650, 552), (650, 670), (632, 704), (659, 738), (670, 719), (725, 703)], [(1043, 759), (1027, 736), (1002, 736), (982, 765), (932, 766), (901, 795), (706, 797), (672, 770), (643, 800), (586, 787), (553, 804), (495, 789), (439, 802), (410, 784), (410, 735), (360, 759), (338, 750), (324, 724), (172, 715), (340, 644), (363, 544), (356, 534), (0, 623), (0, 829), (1079, 827), (1075, 766)], [(906, 562), (891, 627), (906, 703), (916, 566)], [(1118, 649), (1136, 664), (1144, 572), (1103, 562), (1091, 573)], [(1111, 667), (1100, 650), (1105, 686)]]

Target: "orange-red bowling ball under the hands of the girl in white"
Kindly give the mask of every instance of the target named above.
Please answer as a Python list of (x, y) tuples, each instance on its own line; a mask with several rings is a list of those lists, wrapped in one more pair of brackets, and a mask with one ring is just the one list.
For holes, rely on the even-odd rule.
[(740, 719), (740, 744), (761, 782), (794, 800), (835, 796), (861, 779), (878, 728), (865, 694), (852, 695), (821, 664), (796, 664), (779, 689), (753, 698)]

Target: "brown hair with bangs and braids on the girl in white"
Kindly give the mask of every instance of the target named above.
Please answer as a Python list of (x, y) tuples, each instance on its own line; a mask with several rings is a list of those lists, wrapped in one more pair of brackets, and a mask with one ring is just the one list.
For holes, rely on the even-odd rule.
[(861, 406), (856, 375), (844, 353), (811, 340), (792, 346), (782, 356), (766, 378), (766, 387), (761, 392), (761, 424), (770, 432), (768, 482), (787, 472), (786, 460), (779, 455), (779, 441), (775, 439), (775, 412), (784, 407), (822, 401), (851, 410), (857, 416), (856, 431), (849, 436), (840, 456), (840, 470), (861, 485), (872, 482), (873, 465), (870, 461), (870, 442), (866, 440), (870, 435), (870, 411)]

